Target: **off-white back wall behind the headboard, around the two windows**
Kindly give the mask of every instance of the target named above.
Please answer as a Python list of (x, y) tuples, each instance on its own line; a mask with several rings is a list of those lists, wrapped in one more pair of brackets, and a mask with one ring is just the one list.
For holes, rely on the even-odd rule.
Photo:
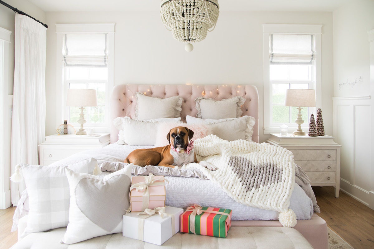
[[(332, 13), (225, 12), (205, 40), (185, 52), (154, 12), (46, 12), (46, 135), (56, 120), (56, 23), (115, 23), (114, 84), (254, 84), (263, 99), (263, 24), (322, 24), (322, 109), (332, 135)], [(263, 134), (260, 101), (260, 142)]]

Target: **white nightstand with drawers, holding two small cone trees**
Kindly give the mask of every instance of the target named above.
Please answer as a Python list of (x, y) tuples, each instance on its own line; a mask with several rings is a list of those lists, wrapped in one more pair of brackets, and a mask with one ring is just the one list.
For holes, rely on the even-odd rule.
[(340, 189), (340, 145), (331, 136), (281, 136), (271, 133), (267, 143), (282, 146), (294, 154), (295, 164), (304, 169), (312, 186), (334, 186)]

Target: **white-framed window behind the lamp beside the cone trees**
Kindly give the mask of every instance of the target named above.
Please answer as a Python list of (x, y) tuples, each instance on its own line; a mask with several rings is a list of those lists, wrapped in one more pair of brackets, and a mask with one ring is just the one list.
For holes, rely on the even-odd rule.
[[(297, 127), (298, 110), (284, 106), (286, 89), (321, 93), (320, 48), (321, 25), (264, 25), (264, 134), (279, 132), (282, 124), (288, 125), (289, 132)], [(315, 110), (301, 110), (303, 128)]]

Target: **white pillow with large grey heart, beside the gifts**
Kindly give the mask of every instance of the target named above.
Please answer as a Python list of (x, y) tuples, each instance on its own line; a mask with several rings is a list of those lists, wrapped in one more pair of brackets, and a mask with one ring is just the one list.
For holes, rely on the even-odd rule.
[(105, 175), (79, 174), (70, 169), (69, 224), (61, 243), (73, 244), (93, 237), (122, 233), (122, 216), (129, 208), (133, 164)]

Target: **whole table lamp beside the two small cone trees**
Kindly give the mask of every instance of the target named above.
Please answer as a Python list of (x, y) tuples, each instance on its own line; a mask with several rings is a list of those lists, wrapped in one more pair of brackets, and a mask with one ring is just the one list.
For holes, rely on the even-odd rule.
[(304, 136), (305, 132), (301, 130), (301, 124), (304, 120), (301, 118), (301, 107), (315, 107), (316, 94), (314, 89), (287, 89), (285, 106), (296, 106), (299, 110), (295, 123), (298, 124), (297, 130), (294, 131), (295, 135)]

